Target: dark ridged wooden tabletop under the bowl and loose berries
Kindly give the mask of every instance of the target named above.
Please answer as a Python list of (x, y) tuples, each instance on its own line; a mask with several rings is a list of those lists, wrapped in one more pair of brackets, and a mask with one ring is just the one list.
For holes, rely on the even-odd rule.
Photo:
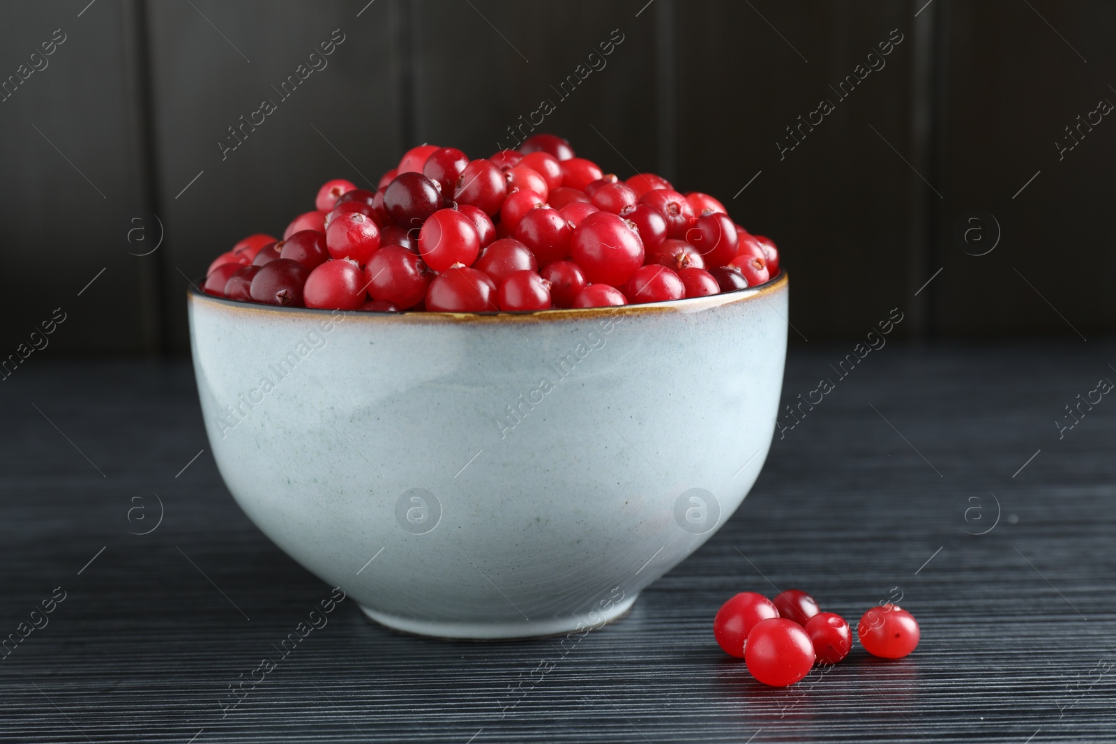
[[(792, 349), (785, 400), (836, 388), (704, 548), (573, 650), (403, 636), (346, 601), (227, 716), (328, 588), (225, 492), (187, 364), (32, 358), (0, 384), (0, 636), (42, 627), (0, 660), (0, 738), (1116, 740), (1116, 399), (1055, 424), (1116, 379), (1116, 345), (891, 342), (837, 379), (849, 350)], [(162, 523), (129, 534), (155, 526), (153, 494)], [(850, 621), (902, 596), (922, 644), (762, 687), (710, 624), (776, 587)]]

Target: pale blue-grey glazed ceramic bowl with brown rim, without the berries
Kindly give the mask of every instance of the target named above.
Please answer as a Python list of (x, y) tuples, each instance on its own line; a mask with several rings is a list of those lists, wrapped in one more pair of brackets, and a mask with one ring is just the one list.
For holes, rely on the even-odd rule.
[(786, 273), (655, 305), (329, 312), (191, 291), (205, 429), (248, 516), (373, 619), (446, 638), (596, 627), (756, 481)]

